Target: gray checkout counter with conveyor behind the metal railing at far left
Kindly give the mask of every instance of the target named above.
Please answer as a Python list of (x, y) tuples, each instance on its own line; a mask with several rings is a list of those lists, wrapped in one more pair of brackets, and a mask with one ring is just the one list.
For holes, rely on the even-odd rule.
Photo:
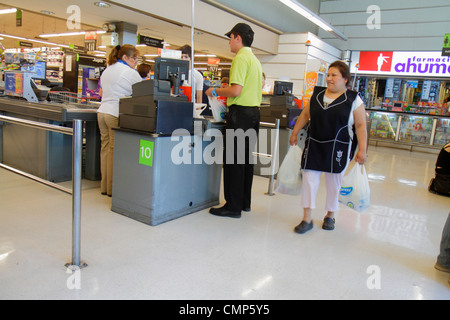
[[(49, 88), (37, 85), (30, 74), (24, 72), (7, 72), (4, 86), (5, 96), (0, 97), (1, 115), (64, 127), (72, 127), (74, 119), (84, 121), (84, 178), (100, 179), (97, 105), (48, 102), (45, 98)], [(72, 137), (0, 122), (0, 162), (47, 181), (71, 180)]]

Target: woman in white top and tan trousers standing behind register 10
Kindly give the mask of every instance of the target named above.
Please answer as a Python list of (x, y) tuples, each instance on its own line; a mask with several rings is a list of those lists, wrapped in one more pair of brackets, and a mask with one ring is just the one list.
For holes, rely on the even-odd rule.
[(114, 131), (119, 126), (119, 99), (131, 96), (131, 86), (142, 81), (136, 71), (139, 51), (130, 44), (116, 46), (108, 57), (108, 67), (100, 77), (103, 96), (97, 119), (100, 129), (100, 191), (112, 196), (112, 174), (114, 154)]

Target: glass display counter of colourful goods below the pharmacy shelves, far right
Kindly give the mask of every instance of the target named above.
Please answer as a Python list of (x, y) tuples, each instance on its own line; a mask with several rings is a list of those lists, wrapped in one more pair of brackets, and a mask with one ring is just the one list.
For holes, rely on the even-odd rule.
[(369, 141), (440, 149), (450, 142), (450, 116), (367, 110)]

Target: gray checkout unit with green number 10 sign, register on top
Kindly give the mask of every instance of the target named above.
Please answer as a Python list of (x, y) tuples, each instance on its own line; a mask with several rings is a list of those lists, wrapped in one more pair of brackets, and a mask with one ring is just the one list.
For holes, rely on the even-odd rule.
[(133, 85), (133, 96), (120, 100), (115, 130), (111, 210), (151, 226), (219, 203), (222, 165), (202, 157), (216, 141), (194, 130), (193, 104), (172, 96), (171, 87), (162, 80)]

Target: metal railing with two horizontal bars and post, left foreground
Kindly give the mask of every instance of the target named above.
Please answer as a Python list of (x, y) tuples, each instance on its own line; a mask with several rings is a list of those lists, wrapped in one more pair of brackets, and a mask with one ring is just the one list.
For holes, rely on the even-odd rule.
[(58, 132), (72, 136), (72, 190), (60, 186), (56, 183), (47, 181), (32, 174), (12, 168), (0, 163), (0, 168), (10, 170), (34, 181), (40, 182), (52, 188), (58, 189), (72, 195), (72, 261), (66, 264), (66, 267), (77, 266), (79, 268), (86, 267), (86, 263), (82, 263), (80, 259), (80, 240), (81, 240), (81, 174), (82, 174), (82, 147), (83, 147), (83, 127), (82, 120), (73, 120), (73, 128), (66, 128), (46, 124), (37, 121), (19, 119), (9, 116), (0, 115), (0, 121), (23, 125), (27, 127)]

